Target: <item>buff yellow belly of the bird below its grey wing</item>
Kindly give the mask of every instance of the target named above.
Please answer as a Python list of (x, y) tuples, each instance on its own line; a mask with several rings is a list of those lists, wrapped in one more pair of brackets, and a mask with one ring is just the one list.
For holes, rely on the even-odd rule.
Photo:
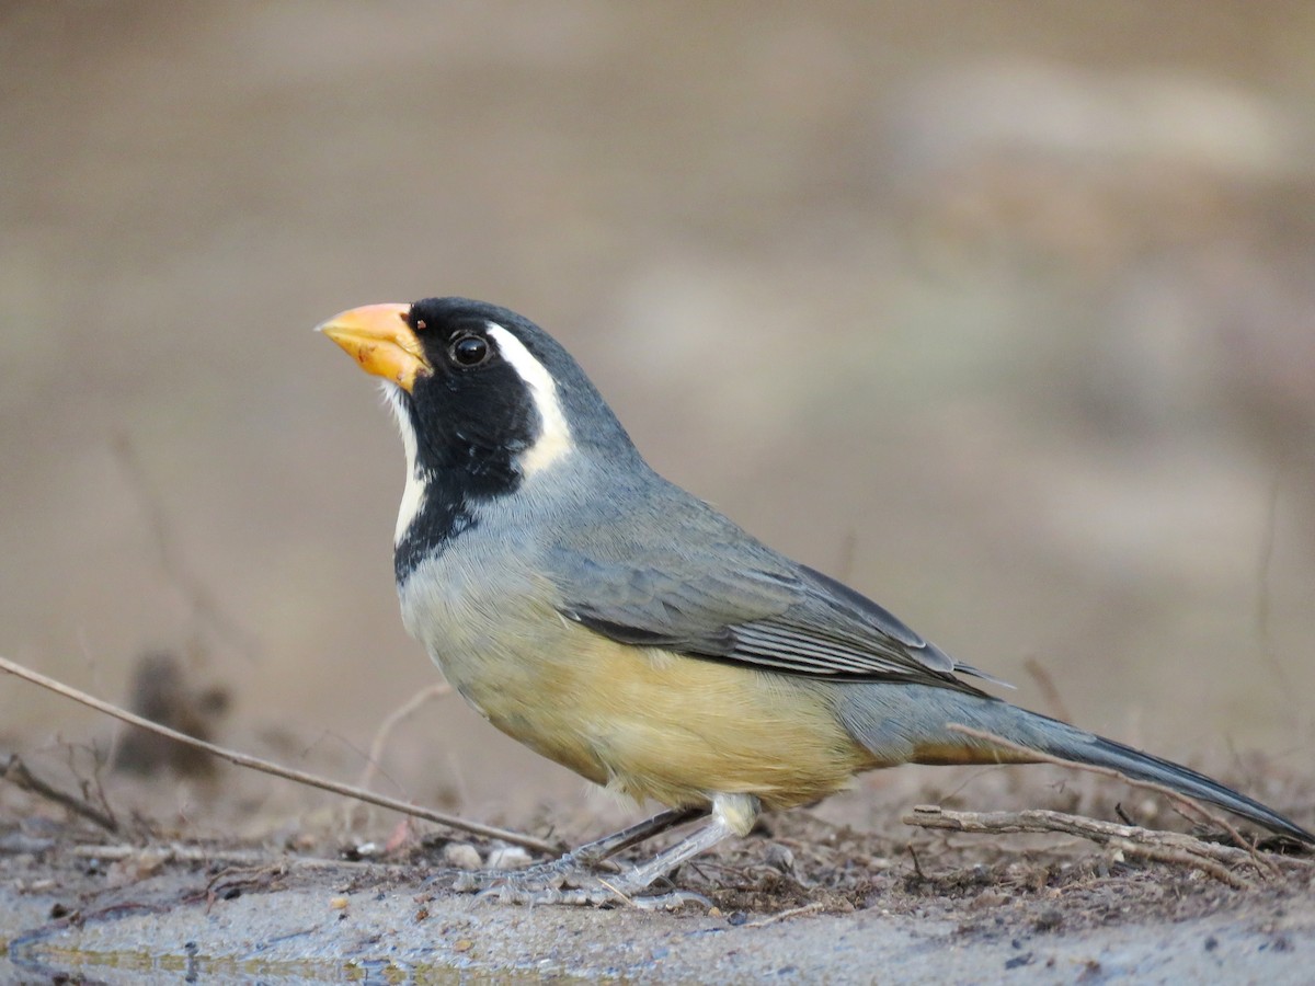
[(735, 793), (782, 809), (876, 765), (817, 684), (552, 624), (537, 647), (504, 634), (435, 660), (497, 728), (596, 784), (673, 807)]

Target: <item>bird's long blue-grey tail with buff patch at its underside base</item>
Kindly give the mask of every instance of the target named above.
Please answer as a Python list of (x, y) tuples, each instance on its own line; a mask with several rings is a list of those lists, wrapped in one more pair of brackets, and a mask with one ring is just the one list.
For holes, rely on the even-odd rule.
[(998, 698), (927, 685), (847, 685), (836, 689), (846, 728), (882, 764), (1030, 763), (1019, 751), (949, 730), (967, 726), (1019, 747), (1152, 781), (1315, 845), (1315, 835), (1211, 777)]

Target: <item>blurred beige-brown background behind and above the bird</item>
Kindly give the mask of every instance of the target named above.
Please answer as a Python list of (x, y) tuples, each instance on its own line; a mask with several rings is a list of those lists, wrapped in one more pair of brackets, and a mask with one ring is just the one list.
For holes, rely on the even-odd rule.
[[(359, 772), (437, 673), (312, 327), (452, 293), (1023, 705), (1308, 769), (1311, 4), (11, 0), (0, 85), (0, 653), (114, 701), (172, 653)], [(5, 748), (112, 732), (0, 680)], [(384, 769), (580, 789), (456, 698)]]

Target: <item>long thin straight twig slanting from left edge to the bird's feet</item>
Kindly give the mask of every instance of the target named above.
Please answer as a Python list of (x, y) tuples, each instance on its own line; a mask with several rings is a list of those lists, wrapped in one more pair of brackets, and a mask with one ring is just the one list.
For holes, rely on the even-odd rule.
[(195, 736), (188, 736), (185, 732), (179, 732), (171, 730), (167, 726), (160, 726), (159, 723), (151, 722), (150, 719), (143, 719), (139, 715), (129, 713), (126, 709), (120, 709), (116, 705), (104, 702), (99, 698), (88, 695), (84, 692), (70, 688), (54, 678), (49, 678), (45, 674), (34, 672), (21, 664), (14, 664), (7, 657), (0, 657), (0, 670), (14, 674), (25, 681), (30, 681), (34, 685), (39, 685), (43, 689), (49, 689), (55, 694), (63, 695), (64, 698), (71, 698), (75, 702), (80, 702), (89, 709), (95, 709), (105, 715), (112, 715), (116, 719), (138, 726), (143, 730), (151, 732), (158, 732), (160, 736), (168, 736), (179, 743), (185, 743), (189, 747), (196, 747), (197, 749), (204, 749), (206, 753), (212, 753), (221, 760), (227, 760), (230, 764), (237, 766), (245, 766), (251, 770), (260, 770), (262, 773), (272, 774), (274, 777), (281, 777), (287, 781), (293, 781), (296, 784), (304, 784), (308, 787), (318, 787), (333, 794), (342, 794), (347, 798), (355, 798), (356, 801), (363, 801), (370, 805), (377, 805), (383, 809), (389, 809), (391, 811), (400, 811), (404, 815), (413, 815), (414, 818), (422, 818), (426, 822), (435, 822), (441, 826), (447, 826), (448, 828), (456, 828), (463, 832), (471, 832), (472, 835), (481, 835), (488, 839), (501, 839), (505, 843), (512, 843), (513, 845), (523, 845), (526, 849), (534, 849), (535, 852), (542, 852), (547, 855), (556, 855), (562, 851), (560, 847), (552, 843), (544, 841), (542, 839), (535, 839), (534, 836), (521, 835), (519, 832), (512, 832), (505, 828), (494, 828), (493, 826), (480, 824), (479, 822), (467, 822), (466, 819), (456, 818), (454, 815), (447, 815), (441, 811), (433, 811), (430, 809), (423, 809), (418, 805), (410, 805), (405, 801), (398, 801), (396, 798), (388, 798), (381, 794), (373, 794), (372, 791), (362, 790), (360, 787), (352, 787), (347, 784), (338, 784), (337, 781), (330, 781), (323, 777), (317, 777), (316, 774), (308, 774), (301, 770), (293, 770), (287, 766), (280, 766), (268, 760), (260, 760), (259, 757), (249, 756), (246, 753), (239, 753), (226, 747), (218, 747), (213, 743), (206, 743), (205, 740), (199, 740)]

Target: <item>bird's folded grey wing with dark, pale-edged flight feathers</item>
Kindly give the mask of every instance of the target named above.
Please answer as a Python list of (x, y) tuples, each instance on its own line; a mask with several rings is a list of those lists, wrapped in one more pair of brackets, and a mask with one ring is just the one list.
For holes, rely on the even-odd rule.
[[(684, 506), (679, 530), (593, 526), (590, 544), (554, 547), (547, 561), (562, 615), (613, 640), (694, 657), (977, 692), (955, 672), (978, 672), (876, 602), (785, 559), (710, 507), (700, 504), (692, 517)], [(640, 543), (636, 527), (655, 534)]]

